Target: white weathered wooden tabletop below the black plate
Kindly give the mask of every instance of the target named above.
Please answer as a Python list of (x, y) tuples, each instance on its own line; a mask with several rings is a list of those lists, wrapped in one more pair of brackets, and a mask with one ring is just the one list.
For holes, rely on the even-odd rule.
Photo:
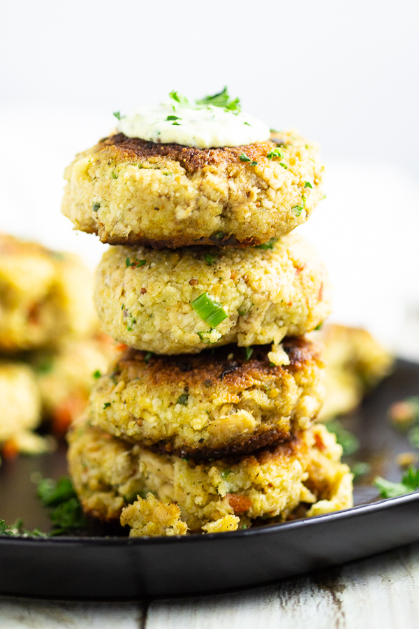
[(148, 602), (0, 597), (1, 629), (413, 629), (419, 542), (233, 593)]

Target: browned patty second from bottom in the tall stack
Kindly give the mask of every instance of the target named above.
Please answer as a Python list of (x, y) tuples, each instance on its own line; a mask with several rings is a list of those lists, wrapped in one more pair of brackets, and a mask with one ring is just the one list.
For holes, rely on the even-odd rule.
[[(308, 428), (324, 396), (322, 346), (289, 338), (183, 356), (128, 349), (91, 392), (91, 423), (142, 447), (205, 458), (253, 451)], [(282, 354), (284, 356), (282, 356)]]

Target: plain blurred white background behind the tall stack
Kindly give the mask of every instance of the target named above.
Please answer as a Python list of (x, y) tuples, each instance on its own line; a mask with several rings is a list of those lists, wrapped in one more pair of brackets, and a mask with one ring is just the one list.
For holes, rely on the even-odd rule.
[(29, 0), (2, 8), (0, 230), (81, 254), (64, 168), (112, 112), (224, 85), (243, 110), (317, 140), (327, 198), (300, 231), (335, 284), (333, 319), (419, 359), (416, 3)]

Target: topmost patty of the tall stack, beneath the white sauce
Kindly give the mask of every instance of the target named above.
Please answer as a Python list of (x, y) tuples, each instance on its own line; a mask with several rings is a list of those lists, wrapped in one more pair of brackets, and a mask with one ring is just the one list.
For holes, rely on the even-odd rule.
[(322, 175), (318, 147), (295, 131), (213, 149), (118, 133), (68, 166), (61, 209), (110, 245), (249, 247), (304, 223), (323, 197)]

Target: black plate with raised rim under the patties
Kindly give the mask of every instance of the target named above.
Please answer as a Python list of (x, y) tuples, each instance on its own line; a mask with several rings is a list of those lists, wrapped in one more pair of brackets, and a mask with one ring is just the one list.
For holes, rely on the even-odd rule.
[[(395, 400), (419, 393), (419, 365), (399, 361), (348, 423), (360, 458), (397, 480), (395, 455), (410, 450), (388, 424)], [(46, 530), (34, 472), (59, 476), (64, 452), (18, 458), (0, 470), (1, 517)], [(0, 538), (0, 591), (60, 598), (144, 598), (216, 591), (272, 581), (385, 551), (419, 539), (419, 493), (377, 500), (360, 486), (353, 509), (235, 533), (186, 537)]]

